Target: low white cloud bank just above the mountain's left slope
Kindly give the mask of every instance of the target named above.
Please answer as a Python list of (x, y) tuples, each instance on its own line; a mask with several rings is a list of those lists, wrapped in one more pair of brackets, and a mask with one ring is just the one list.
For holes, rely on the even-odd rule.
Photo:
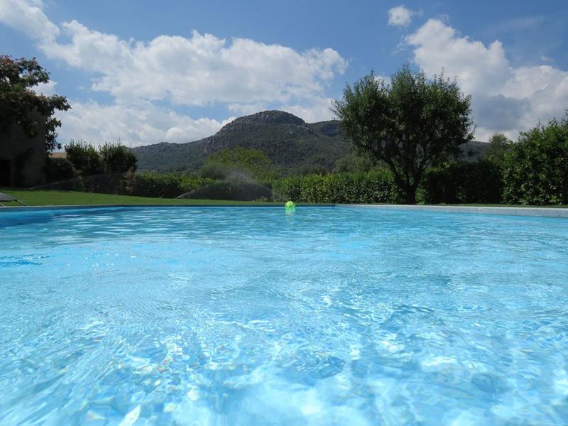
[(184, 143), (210, 136), (232, 121), (192, 119), (151, 102), (136, 106), (102, 105), (97, 102), (72, 102), (72, 109), (58, 113), (62, 121), (59, 140), (82, 138), (99, 144), (121, 140), (132, 146), (163, 141)]

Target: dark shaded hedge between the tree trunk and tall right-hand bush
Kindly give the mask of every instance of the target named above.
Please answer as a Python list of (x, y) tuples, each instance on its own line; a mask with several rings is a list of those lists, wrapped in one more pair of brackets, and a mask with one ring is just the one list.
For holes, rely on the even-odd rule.
[(501, 168), (496, 163), (449, 163), (427, 170), (421, 193), (427, 204), (500, 203)]

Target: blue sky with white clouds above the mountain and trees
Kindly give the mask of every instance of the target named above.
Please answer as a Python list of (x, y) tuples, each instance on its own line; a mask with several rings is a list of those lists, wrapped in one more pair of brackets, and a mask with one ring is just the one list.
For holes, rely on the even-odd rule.
[(515, 140), (568, 108), (568, 1), (0, 0), (0, 54), (37, 57), (70, 111), (58, 141), (195, 141), (280, 109), (332, 119), (374, 70), (444, 70), (475, 138)]

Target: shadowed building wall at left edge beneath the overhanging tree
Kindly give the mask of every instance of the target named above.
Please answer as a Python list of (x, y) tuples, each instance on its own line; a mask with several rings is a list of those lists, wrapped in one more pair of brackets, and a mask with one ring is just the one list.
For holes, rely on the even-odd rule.
[[(0, 167), (9, 168), (9, 185), (33, 187), (45, 183), (45, 118), (35, 114), (38, 136), (28, 138), (20, 126), (13, 124), (0, 134)], [(8, 175), (0, 170), (0, 176)], [(19, 182), (18, 182), (19, 181)]]

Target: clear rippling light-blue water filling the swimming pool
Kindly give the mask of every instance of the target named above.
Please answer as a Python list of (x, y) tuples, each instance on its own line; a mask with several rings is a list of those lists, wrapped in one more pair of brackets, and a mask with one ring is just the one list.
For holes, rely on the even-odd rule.
[(0, 424), (568, 423), (568, 220), (0, 212)]

